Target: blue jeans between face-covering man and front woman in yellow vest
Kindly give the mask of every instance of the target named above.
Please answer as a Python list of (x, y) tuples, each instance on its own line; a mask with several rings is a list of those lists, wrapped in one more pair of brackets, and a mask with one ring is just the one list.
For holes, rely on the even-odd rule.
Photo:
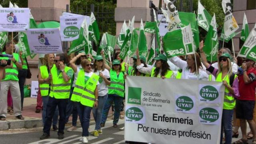
[(66, 109), (66, 123), (68, 122), (68, 118), (72, 113), (72, 126), (76, 126), (76, 122), (77, 122), (77, 118), (78, 118), (76, 102), (73, 102), (70, 100), (73, 90), (74, 90), (74, 87), (71, 88), (70, 96), (68, 98), (68, 104), (67, 104), (67, 109)]

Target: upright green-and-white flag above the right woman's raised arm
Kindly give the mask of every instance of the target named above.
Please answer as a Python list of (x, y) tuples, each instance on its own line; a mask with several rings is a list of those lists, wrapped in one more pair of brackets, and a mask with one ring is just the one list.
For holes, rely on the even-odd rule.
[(205, 38), (204, 52), (208, 61), (212, 62), (217, 60), (218, 34), (215, 14), (212, 17), (212, 21)]

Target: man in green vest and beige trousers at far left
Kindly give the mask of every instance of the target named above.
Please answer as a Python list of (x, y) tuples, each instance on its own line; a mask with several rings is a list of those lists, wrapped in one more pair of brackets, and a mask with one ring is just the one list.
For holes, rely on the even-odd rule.
[[(13, 55), (11, 58), (11, 65), (6, 66), (5, 78), (1, 81), (0, 85), (0, 120), (6, 119), (7, 114), (7, 92), (10, 88), (12, 94), (12, 103), (14, 109), (14, 116), (20, 120), (24, 120), (21, 112), (21, 98), (20, 98), (20, 87), (18, 83), (18, 69), (22, 69), (22, 64), (19, 64), (19, 55), (13, 53), (14, 43), (12, 41), (6, 42), (5, 51), (2, 54), (10, 54)], [(7, 57), (0, 57), (0, 60), (8, 60)]]

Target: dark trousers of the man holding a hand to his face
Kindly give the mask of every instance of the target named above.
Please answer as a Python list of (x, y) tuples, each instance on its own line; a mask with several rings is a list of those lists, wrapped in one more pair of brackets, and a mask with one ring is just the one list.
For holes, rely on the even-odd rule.
[(49, 101), (46, 107), (46, 117), (44, 122), (44, 133), (50, 134), (51, 124), (52, 124), (52, 117), (54, 115), (54, 112), (56, 110), (56, 107), (59, 108), (59, 129), (58, 134), (64, 134), (64, 128), (65, 128), (65, 118), (66, 118), (66, 106), (67, 106), (68, 99), (57, 99), (49, 97)]

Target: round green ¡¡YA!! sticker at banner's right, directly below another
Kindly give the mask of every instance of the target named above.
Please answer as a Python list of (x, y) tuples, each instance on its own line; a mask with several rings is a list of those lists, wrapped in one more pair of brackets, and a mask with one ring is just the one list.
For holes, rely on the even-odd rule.
[(199, 112), (200, 118), (210, 122), (215, 122), (219, 118), (219, 112), (214, 108), (203, 108)]

